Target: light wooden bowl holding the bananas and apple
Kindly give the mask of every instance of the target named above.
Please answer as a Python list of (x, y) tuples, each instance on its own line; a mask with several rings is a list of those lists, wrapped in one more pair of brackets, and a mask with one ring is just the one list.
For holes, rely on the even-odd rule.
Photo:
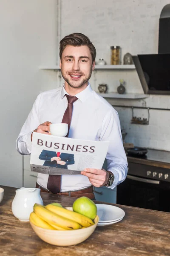
[[(72, 207), (66, 208), (72, 210)], [(88, 239), (97, 227), (98, 222), (99, 216), (97, 215), (94, 219), (95, 224), (93, 226), (78, 230), (48, 230), (42, 227), (37, 227), (31, 222), (30, 224), (37, 236), (46, 243), (58, 246), (70, 246), (79, 244)]]

